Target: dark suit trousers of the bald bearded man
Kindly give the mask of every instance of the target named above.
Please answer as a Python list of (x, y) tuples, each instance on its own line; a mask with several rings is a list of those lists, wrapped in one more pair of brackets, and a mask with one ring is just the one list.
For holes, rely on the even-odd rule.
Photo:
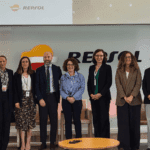
[(55, 94), (47, 95), (45, 102), (46, 102), (45, 107), (39, 105), (40, 138), (43, 145), (46, 145), (48, 115), (51, 123), (50, 143), (52, 144), (54, 144), (56, 141), (57, 123), (58, 123), (58, 115), (57, 115), (58, 103), (56, 101)]

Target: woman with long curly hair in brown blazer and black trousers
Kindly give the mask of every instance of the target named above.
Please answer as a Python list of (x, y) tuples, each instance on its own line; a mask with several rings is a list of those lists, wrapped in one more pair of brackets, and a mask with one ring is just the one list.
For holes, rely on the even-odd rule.
[(115, 80), (119, 149), (137, 150), (140, 146), (141, 72), (131, 52), (121, 55)]

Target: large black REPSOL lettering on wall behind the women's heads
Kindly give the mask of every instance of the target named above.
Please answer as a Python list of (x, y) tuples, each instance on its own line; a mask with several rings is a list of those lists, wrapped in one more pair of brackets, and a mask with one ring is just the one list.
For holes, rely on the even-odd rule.
[[(108, 59), (107, 63), (113, 62), (115, 55), (118, 56), (118, 60), (119, 60), (119, 58), (123, 54), (123, 52), (125, 52), (125, 51), (122, 51), (120, 53), (119, 53), (119, 51), (112, 51), (109, 55), (109, 59), (108, 59), (108, 55), (107, 55), (107, 59)], [(139, 54), (140, 54), (140, 51), (135, 51), (134, 56), (136, 57), (137, 62), (142, 61), (142, 60), (139, 60)], [(91, 63), (92, 62), (92, 56), (93, 56), (93, 52), (84, 52), (82, 63)], [(78, 58), (81, 57), (81, 53), (80, 52), (69, 52), (68, 58), (70, 58), (70, 57), (74, 57), (78, 60)], [(79, 60), (78, 60), (78, 62), (81, 63)]]

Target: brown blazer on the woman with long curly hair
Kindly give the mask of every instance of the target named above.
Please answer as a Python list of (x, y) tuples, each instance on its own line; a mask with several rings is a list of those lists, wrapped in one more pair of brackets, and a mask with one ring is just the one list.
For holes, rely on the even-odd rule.
[(117, 69), (115, 81), (117, 88), (117, 106), (123, 106), (125, 104), (124, 97), (129, 97), (130, 95), (133, 95), (134, 97), (130, 105), (140, 105), (142, 103), (140, 93), (142, 82), (140, 69), (130, 69), (128, 78), (126, 77), (126, 72)]

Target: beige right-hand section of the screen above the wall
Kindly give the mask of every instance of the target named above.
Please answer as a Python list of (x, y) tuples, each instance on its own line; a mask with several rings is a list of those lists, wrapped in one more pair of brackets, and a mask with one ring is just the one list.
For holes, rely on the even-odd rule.
[(149, 24), (150, 0), (72, 0), (73, 24)]

